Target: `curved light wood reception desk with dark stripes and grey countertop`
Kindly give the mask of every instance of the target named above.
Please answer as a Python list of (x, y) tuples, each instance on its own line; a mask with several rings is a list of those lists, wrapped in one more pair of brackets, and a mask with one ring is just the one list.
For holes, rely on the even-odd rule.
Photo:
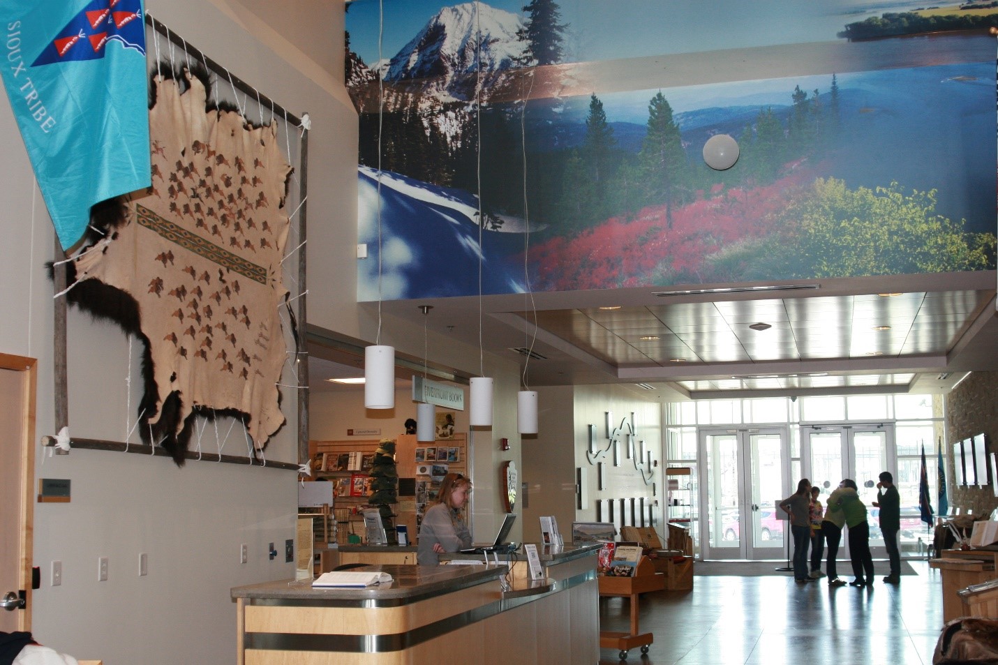
[(596, 663), (597, 552), (549, 553), (538, 582), (506, 565), (379, 564), (394, 581), (378, 588), (237, 587), (238, 663)]

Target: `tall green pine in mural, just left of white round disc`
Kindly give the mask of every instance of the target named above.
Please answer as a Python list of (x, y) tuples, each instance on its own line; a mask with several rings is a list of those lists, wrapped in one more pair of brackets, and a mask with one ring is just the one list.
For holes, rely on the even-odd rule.
[(661, 92), (648, 105), (648, 134), (640, 153), (646, 174), (647, 202), (666, 205), (666, 224), (673, 228), (673, 208), (680, 196), (686, 153), (673, 107)]

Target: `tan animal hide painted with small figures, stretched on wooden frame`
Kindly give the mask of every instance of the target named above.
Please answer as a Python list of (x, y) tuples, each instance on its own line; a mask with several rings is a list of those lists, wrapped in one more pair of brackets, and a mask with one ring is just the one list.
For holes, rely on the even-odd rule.
[[(272, 124), (253, 129), (238, 113), (206, 111), (205, 87), (192, 76), (188, 83), (182, 92), (156, 81), (153, 185), (129, 203), (127, 222), (102, 250), (77, 259), (77, 279), (138, 303), (156, 391), (144, 400), (155, 404), (144, 427), (176, 435), (195, 409), (235, 411), (262, 448), (284, 421), (276, 384), (290, 166)], [(165, 416), (174, 421), (160, 422), (174, 396), (180, 403)]]

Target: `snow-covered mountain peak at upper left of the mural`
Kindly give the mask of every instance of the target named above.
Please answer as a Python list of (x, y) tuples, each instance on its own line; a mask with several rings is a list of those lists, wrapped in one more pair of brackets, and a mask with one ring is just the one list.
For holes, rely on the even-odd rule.
[(424, 92), (444, 100), (473, 99), (479, 58), (484, 87), (516, 66), (523, 52), (516, 36), (520, 28), (518, 15), (484, 3), (444, 7), (392, 57), (384, 80), (420, 81)]

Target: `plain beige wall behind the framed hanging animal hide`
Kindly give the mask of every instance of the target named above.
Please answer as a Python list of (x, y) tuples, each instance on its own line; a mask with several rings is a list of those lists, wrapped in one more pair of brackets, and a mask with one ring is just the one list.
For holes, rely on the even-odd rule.
[[(265, 12), (266, 20), (246, 6)], [(271, 16), (276, 7), (258, 0), (147, 3), (157, 19), (261, 93), (292, 113), (310, 114), (309, 310), (330, 330), (356, 334), (356, 116), (337, 82), (342, 3), (281, 3), (279, 16)], [(44, 269), (55, 242), (9, 103), (0, 97), (0, 351), (39, 358), (40, 437), (55, 433), (53, 289)], [(134, 420), (138, 401), (138, 348), (130, 361), (123, 333), (76, 312), (68, 329), (70, 432), (122, 440), (129, 406)], [(130, 365), (136, 384), (131, 395), (125, 383)], [(284, 394), (282, 408), (289, 422), (265, 453), (295, 462), (293, 394)], [(214, 445), (214, 434), (209, 438)], [(240, 439), (224, 452), (240, 454), (241, 445), (245, 451)], [(61, 651), (102, 658), (106, 665), (233, 663), (231, 587), (293, 575), (293, 563), (285, 564), (282, 555), (275, 561), (266, 556), (268, 542), (282, 554), (281, 543), (293, 537), (293, 471), (198, 461), (177, 468), (165, 457), (82, 449), (49, 457), (39, 448), (36, 476), (72, 481), (70, 503), (35, 509), (35, 564), (43, 574), (33, 632)], [(246, 565), (239, 563), (241, 543), (250, 547)], [(149, 554), (145, 577), (138, 574), (142, 552)], [(100, 556), (110, 560), (105, 582), (97, 581)], [(59, 587), (50, 584), (54, 560), (63, 565)]]

